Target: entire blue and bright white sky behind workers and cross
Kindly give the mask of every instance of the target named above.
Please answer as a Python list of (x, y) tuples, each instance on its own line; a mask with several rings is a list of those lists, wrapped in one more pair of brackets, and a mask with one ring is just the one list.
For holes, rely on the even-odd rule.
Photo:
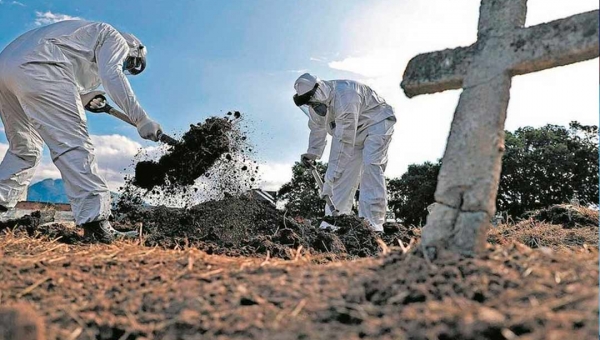
[[(306, 117), (292, 101), (295, 79), (352, 79), (394, 106), (398, 123), (388, 177), (443, 156), (460, 90), (408, 99), (399, 87), (419, 53), (476, 40), (479, 0), (0, 0), (0, 49), (60, 20), (103, 21), (148, 47), (148, 67), (130, 78), (167, 133), (238, 110), (261, 163), (262, 188), (291, 178), (305, 152)], [(597, 0), (529, 0), (527, 26), (598, 9)], [(598, 125), (598, 59), (513, 79), (507, 130), (572, 120)], [(154, 149), (115, 118), (88, 114), (102, 175), (116, 189), (140, 148)], [(0, 134), (0, 156), (8, 145)], [(327, 156), (327, 153), (326, 155)], [(59, 178), (46, 150), (34, 182)]]

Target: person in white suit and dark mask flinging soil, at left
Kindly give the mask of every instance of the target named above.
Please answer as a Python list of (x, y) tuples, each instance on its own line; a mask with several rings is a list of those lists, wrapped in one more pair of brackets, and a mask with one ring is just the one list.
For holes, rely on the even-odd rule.
[(98, 171), (80, 95), (102, 84), (140, 136), (156, 141), (160, 125), (125, 77), (143, 71), (145, 58), (146, 48), (133, 35), (81, 20), (29, 31), (0, 53), (0, 115), (9, 143), (0, 164), (2, 210), (14, 207), (27, 190), (45, 142), (84, 235), (102, 242), (136, 236), (108, 222), (110, 191)]

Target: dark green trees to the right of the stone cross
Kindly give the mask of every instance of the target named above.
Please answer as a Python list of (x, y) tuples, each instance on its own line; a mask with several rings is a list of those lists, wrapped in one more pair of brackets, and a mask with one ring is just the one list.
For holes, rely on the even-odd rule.
[(512, 216), (569, 202), (598, 203), (598, 127), (571, 122), (506, 132), (497, 209)]

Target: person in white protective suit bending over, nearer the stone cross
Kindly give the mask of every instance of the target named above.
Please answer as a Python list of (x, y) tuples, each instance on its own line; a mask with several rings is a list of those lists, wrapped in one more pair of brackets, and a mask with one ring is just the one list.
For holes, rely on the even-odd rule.
[[(309, 165), (320, 159), (332, 136), (329, 164), (321, 195), (329, 196), (340, 214), (350, 214), (360, 185), (359, 216), (383, 231), (387, 210), (384, 171), (394, 132), (394, 109), (368, 86), (352, 80), (320, 80), (305, 73), (294, 84), (294, 103), (308, 116)], [(331, 215), (329, 207), (326, 213)]]

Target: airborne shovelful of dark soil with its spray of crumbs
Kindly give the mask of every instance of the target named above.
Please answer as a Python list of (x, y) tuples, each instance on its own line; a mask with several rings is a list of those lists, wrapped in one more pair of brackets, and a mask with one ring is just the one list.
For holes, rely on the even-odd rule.
[(120, 188), (118, 210), (139, 205), (190, 207), (253, 188), (259, 168), (253, 165), (248, 128), (241, 113), (228, 112), (190, 125), (181, 142), (163, 150), (158, 160), (153, 159), (154, 151), (140, 152), (135, 174), (126, 176)]

